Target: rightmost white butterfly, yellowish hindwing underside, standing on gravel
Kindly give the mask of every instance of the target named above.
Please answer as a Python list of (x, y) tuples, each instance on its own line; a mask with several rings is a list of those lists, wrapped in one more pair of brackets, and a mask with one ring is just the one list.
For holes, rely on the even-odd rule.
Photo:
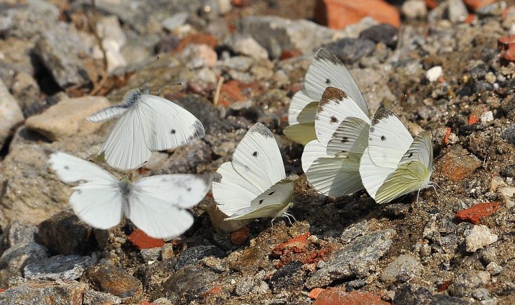
[(379, 108), (372, 119), (359, 172), (367, 192), (378, 204), (432, 186), (431, 136), (420, 132), (413, 139), (393, 112)]

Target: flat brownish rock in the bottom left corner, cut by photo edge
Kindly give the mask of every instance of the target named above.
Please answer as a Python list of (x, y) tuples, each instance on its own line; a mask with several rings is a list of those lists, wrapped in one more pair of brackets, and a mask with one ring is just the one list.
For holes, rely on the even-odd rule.
[(82, 305), (88, 285), (80, 282), (30, 281), (0, 293), (0, 304)]

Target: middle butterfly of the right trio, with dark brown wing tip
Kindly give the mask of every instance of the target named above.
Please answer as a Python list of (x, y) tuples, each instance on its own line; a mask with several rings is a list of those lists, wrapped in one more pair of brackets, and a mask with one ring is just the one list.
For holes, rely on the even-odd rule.
[(326, 88), (320, 100), (314, 119), (317, 139), (304, 147), (302, 169), (324, 195), (341, 197), (363, 189), (359, 162), (367, 147), (370, 119), (367, 104), (358, 101), (334, 87)]

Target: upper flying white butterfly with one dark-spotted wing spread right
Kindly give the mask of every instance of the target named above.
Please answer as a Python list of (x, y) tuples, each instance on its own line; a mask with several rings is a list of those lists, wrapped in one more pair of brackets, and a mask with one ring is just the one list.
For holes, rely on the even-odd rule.
[(120, 117), (98, 154), (117, 169), (134, 169), (150, 158), (152, 151), (179, 147), (202, 138), (204, 126), (180, 106), (150, 95), (150, 88), (130, 90), (122, 103), (88, 117), (100, 122)]

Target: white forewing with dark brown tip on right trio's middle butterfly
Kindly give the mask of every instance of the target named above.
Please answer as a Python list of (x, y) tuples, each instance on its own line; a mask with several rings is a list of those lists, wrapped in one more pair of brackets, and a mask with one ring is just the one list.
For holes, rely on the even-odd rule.
[(355, 117), (362, 119), (365, 123), (370, 123), (367, 114), (347, 93), (334, 87), (325, 89), (314, 118), (314, 131), (323, 146), (328, 145), (334, 132), (348, 117)]

